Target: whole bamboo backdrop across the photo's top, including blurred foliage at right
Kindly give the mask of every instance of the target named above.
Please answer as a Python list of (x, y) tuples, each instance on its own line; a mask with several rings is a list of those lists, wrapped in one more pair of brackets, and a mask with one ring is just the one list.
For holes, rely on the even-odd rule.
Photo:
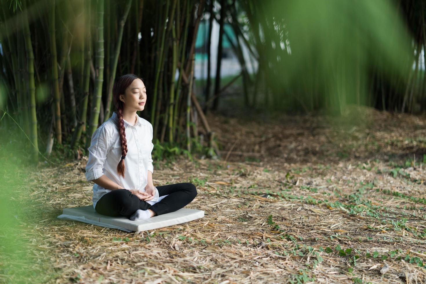
[[(421, 112), (425, 2), (1, 0), (0, 127), (22, 127), (35, 162), (54, 145), (87, 149), (114, 111), (114, 80), (126, 73), (144, 78), (147, 106), (138, 115), (153, 124), (155, 140), (188, 152), (206, 144), (210, 155), (219, 150), (204, 113), (217, 110), (239, 79), (248, 108), (342, 113), (358, 104)], [(207, 80), (204, 94), (195, 94), (201, 22), (208, 27)], [(225, 38), (241, 66), (226, 86)]]

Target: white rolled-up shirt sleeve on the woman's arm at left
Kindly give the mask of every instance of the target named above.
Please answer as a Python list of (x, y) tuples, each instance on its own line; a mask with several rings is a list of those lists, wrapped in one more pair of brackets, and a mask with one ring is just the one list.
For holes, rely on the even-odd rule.
[(108, 152), (108, 138), (105, 126), (95, 130), (89, 147), (89, 161), (86, 165), (86, 180), (92, 181), (104, 175), (103, 168)]

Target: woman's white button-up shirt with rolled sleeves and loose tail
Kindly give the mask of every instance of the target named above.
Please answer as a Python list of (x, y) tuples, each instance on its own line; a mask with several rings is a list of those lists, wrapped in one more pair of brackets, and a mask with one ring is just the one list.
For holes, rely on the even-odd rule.
[[(124, 159), (124, 178), (117, 173), (117, 165), (121, 159), (121, 142), (118, 132), (118, 116), (116, 112), (102, 123), (92, 135), (89, 147), (89, 161), (86, 165), (86, 180), (92, 181), (106, 175), (125, 189), (145, 191), (148, 172), (154, 172), (151, 152), (153, 151), (153, 126), (136, 115), (135, 125), (124, 120), (127, 139), (127, 155)], [(93, 208), (98, 200), (108, 192), (98, 184), (93, 185)]]

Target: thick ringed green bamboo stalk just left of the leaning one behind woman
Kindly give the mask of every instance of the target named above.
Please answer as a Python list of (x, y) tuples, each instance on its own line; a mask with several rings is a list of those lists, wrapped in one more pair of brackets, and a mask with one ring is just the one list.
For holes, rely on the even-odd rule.
[(98, 128), (99, 113), (102, 98), (102, 83), (104, 82), (104, 0), (98, 0), (96, 15), (96, 79), (93, 92), (92, 112), (90, 115), (90, 128), (86, 135), (86, 149), (90, 146), (93, 133)]

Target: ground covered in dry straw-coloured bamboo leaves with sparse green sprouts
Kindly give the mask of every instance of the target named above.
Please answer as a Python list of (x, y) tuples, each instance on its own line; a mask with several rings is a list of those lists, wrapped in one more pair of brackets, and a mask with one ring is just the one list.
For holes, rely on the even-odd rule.
[(18, 220), (19, 238), (29, 240), (27, 261), (45, 270), (34, 279), (426, 282), (424, 116), (364, 109), (338, 119), (209, 121), (226, 161), (155, 166), (155, 184), (197, 186), (187, 207), (205, 217), (187, 224), (127, 233), (60, 220), (63, 207), (91, 204), (86, 159), (32, 173), (27, 214)]

